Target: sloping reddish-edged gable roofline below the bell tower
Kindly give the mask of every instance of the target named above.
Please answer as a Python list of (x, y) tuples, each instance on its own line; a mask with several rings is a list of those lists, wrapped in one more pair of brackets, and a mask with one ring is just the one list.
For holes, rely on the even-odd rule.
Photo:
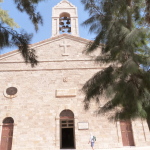
[[(70, 34), (61, 34), (61, 35), (51, 37), (49, 39), (46, 39), (46, 40), (43, 40), (43, 41), (40, 41), (40, 42), (37, 42), (37, 43), (34, 43), (34, 44), (30, 44), (29, 46), (31, 48), (36, 48), (36, 47), (39, 47), (41, 45), (45, 45), (45, 44), (48, 44), (48, 43), (51, 43), (51, 42), (54, 42), (54, 41), (57, 41), (57, 40), (60, 40), (60, 39), (64, 39), (64, 38), (71, 39), (71, 40), (77, 41), (79, 43), (84, 43), (84, 44), (87, 44), (88, 42), (90, 42), (90, 40), (87, 40), (87, 39), (84, 39), (84, 38), (81, 38), (81, 37), (73, 36), (73, 35), (70, 35)], [(5, 58), (5, 57), (9, 57), (11, 55), (16, 55), (18, 53), (19, 53), (18, 50), (14, 50), (14, 51), (2, 54), (2, 55), (0, 55), (0, 60)]]

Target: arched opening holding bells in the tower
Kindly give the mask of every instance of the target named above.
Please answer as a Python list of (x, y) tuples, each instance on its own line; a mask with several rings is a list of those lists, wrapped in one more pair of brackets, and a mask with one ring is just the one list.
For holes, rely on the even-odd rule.
[(60, 34), (71, 33), (71, 18), (67, 12), (63, 12), (59, 15), (59, 32)]

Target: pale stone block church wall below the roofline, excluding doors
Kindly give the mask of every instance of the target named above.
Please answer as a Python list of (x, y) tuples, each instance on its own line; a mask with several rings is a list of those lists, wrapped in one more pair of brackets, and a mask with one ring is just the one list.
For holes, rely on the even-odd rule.
[[(61, 55), (59, 45), (66, 40), (71, 47), (68, 56)], [(14, 119), (12, 150), (58, 150), (60, 149), (59, 115), (65, 109), (75, 115), (76, 149), (89, 149), (90, 132), (96, 138), (95, 148), (122, 147), (119, 122), (109, 122), (106, 116), (97, 116), (97, 104), (91, 103), (84, 110), (83, 84), (97, 71), (106, 67), (98, 66), (82, 51), (84, 40), (71, 39), (63, 35), (48, 43), (34, 45), (39, 56), (39, 65), (31, 68), (25, 65), (19, 54), (0, 60), (0, 123), (6, 117)], [(41, 45), (40, 45), (41, 44)], [(9, 99), (4, 91), (11, 86), (18, 89), (17, 96)], [(101, 101), (105, 103), (105, 99)], [(79, 130), (78, 123), (87, 122), (88, 130)], [(147, 123), (142, 120), (132, 122), (136, 146), (150, 144)], [(140, 134), (140, 136), (139, 136)]]

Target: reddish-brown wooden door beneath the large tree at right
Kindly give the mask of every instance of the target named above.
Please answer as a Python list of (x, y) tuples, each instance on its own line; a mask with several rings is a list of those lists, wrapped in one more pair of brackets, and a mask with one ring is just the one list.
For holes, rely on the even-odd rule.
[(130, 121), (120, 121), (123, 146), (134, 146), (132, 124)]

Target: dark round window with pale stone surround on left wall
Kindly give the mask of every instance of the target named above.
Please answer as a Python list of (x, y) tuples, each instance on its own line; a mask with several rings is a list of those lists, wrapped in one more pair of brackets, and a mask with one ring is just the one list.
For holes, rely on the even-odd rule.
[(8, 98), (14, 98), (17, 96), (18, 89), (16, 87), (8, 87), (4, 91), (4, 95)]

